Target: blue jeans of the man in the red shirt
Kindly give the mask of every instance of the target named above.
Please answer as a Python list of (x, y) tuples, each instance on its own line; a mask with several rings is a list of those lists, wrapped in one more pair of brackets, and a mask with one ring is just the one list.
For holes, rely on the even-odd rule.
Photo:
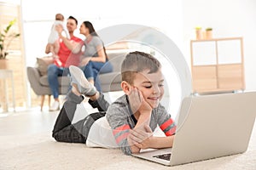
[(54, 99), (59, 98), (59, 82), (58, 77), (67, 77), (69, 75), (69, 69), (58, 67), (57, 65), (48, 66), (48, 82), (51, 93), (54, 96)]

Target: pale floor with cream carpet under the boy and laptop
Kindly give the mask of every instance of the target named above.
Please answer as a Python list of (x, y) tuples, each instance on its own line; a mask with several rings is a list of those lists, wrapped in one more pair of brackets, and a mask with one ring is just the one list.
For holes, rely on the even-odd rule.
[[(115, 97), (111, 95), (111, 98)], [(94, 111), (86, 103), (84, 107)], [(41, 112), (39, 106), (26, 111), (0, 112), (0, 169), (256, 169), (255, 133), (248, 150), (241, 155), (165, 167), (125, 156), (120, 150), (91, 149), (84, 144), (55, 142), (50, 132), (58, 113), (49, 112), (48, 107)], [(78, 120), (79, 116), (75, 119)], [(254, 127), (253, 132), (255, 130)], [(101, 157), (100, 163), (98, 157)]]

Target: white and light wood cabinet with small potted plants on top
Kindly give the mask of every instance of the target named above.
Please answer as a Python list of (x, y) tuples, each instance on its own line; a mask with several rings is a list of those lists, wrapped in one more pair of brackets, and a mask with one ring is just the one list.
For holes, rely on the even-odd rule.
[(242, 37), (191, 40), (194, 93), (244, 90)]

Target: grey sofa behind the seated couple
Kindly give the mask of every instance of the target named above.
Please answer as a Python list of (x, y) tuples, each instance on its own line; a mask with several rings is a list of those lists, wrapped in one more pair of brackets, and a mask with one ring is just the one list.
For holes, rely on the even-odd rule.
[[(108, 62), (110, 62), (111, 65), (113, 65), (113, 71), (104, 74), (100, 73), (98, 75), (103, 93), (121, 90), (120, 67), (122, 60), (125, 58), (126, 54), (126, 52), (118, 52), (114, 50), (112, 52), (108, 52)], [(40, 106), (42, 111), (44, 106), (45, 95), (49, 96), (50, 103), (51, 91), (49, 88), (47, 76), (41, 76), (37, 67), (27, 66), (26, 71), (27, 78), (30, 82), (33, 92), (41, 96)], [(67, 94), (68, 88), (70, 86), (70, 77), (58, 77), (58, 81), (60, 84), (59, 93), (64, 95)]]

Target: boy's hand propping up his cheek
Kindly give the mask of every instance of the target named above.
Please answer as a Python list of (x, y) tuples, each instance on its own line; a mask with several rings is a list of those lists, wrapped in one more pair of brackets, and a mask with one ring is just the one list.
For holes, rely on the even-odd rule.
[(137, 88), (131, 88), (131, 92), (128, 94), (128, 98), (130, 101), (132, 113), (136, 113), (137, 111), (139, 111), (140, 114), (151, 113), (151, 106), (147, 101), (145, 101), (142, 92)]

